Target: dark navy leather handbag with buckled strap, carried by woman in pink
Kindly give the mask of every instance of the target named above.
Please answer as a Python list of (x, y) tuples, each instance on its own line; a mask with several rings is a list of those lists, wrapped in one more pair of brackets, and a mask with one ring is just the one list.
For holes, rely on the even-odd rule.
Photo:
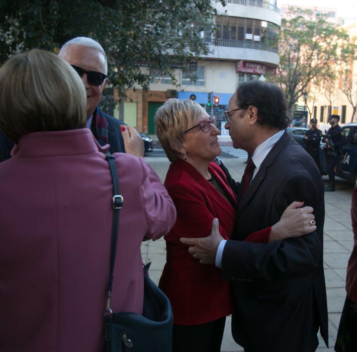
[(144, 305), (143, 314), (132, 312), (113, 313), (110, 308), (113, 271), (118, 242), (119, 210), (123, 206), (120, 195), (115, 158), (107, 153), (113, 180), (113, 226), (110, 255), (110, 276), (107, 304), (104, 312), (105, 352), (171, 352), (173, 314), (167, 296), (149, 278), (148, 263), (143, 268)]

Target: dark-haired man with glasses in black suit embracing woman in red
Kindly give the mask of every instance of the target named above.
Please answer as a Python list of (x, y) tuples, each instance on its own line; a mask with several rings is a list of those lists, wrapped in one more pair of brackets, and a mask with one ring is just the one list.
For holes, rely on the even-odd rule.
[[(225, 112), (235, 148), (252, 153), (253, 174), (238, 189), (232, 240), (213, 223), (209, 237), (186, 240), (201, 263), (215, 262), (233, 282), (237, 309), (232, 334), (246, 352), (310, 352), (320, 328), (326, 344), (327, 303), (323, 273), (324, 189), (310, 155), (284, 129), (287, 105), (277, 85), (258, 80), (238, 86)], [(249, 165), (249, 163), (248, 163)], [(248, 167), (248, 166), (247, 166)], [(279, 221), (293, 201), (314, 208), (317, 229), (267, 244), (244, 241)]]

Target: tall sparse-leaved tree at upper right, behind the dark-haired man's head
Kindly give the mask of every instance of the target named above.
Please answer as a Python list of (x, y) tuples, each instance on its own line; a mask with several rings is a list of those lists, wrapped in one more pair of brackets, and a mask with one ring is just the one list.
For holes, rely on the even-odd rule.
[(280, 84), (291, 109), (313, 80), (328, 77), (344, 59), (348, 35), (323, 14), (290, 7), (279, 39), (278, 74), (270, 79)]

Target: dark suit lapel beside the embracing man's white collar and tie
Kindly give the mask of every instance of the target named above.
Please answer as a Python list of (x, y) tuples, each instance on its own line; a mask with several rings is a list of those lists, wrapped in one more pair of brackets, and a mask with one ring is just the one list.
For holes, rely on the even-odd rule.
[(242, 198), (238, 202), (238, 217), (244, 210), (244, 208), (248, 205), (250, 199), (254, 196), (255, 192), (263, 182), (266, 176), (266, 171), (274, 162), (276, 156), (279, 152), (286, 146), (286, 144), (290, 141), (290, 137), (285, 131), (281, 138), (278, 140), (277, 143), (273, 146), (272, 150), (266, 155), (265, 159), (260, 165), (260, 168), (255, 175), (254, 179), (251, 181), (249, 187), (243, 194)]

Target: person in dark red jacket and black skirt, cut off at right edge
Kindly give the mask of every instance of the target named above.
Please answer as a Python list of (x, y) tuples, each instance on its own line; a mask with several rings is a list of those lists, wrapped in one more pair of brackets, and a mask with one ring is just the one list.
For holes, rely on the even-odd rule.
[(357, 186), (352, 194), (351, 219), (354, 243), (347, 266), (347, 295), (335, 344), (337, 352), (357, 351)]

